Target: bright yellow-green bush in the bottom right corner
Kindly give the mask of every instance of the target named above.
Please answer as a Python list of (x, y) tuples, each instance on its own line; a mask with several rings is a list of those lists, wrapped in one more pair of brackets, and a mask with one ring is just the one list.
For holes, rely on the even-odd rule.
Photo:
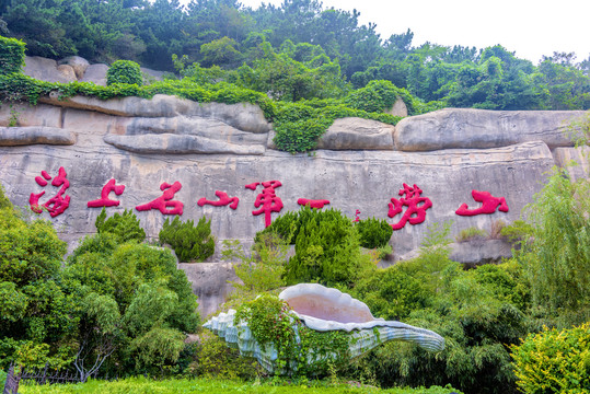
[(529, 335), (511, 350), (517, 384), (522, 392), (590, 392), (590, 323)]

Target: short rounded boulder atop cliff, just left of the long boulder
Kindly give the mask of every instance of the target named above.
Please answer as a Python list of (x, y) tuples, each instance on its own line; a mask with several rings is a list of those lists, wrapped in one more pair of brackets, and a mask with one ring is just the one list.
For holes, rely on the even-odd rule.
[(393, 150), (391, 125), (356, 117), (336, 119), (317, 141), (319, 149), (332, 150)]

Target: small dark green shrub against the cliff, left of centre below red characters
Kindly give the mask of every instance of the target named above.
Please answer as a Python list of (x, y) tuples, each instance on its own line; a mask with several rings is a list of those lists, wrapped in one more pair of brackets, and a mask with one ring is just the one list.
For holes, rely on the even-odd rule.
[(196, 227), (193, 220), (183, 223), (177, 216), (172, 222), (166, 219), (159, 237), (161, 243), (172, 246), (181, 262), (204, 262), (215, 253), (211, 220), (207, 221), (205, 216)]

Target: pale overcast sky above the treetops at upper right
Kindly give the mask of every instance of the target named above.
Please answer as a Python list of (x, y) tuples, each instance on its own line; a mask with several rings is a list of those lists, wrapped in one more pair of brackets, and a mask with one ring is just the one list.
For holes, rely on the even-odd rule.
[[(262, 1), (240, 0), (256, 9)], [(280, 5), (282, 0), (266, 0)], [(485, 48), (502, 45), (516, 56), (537, 63), (543, 55), (575, 51), (577, 61), (590, 56), (590, 0), (323, 0), (360, 12), (360, 23), (377, 23), (381, 38), (414, 32), (414, 46)]]

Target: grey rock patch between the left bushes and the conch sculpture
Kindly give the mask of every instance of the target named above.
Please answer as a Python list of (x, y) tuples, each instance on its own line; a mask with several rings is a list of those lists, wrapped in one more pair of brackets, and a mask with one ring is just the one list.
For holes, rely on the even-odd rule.
[(193, 285), (193, 292), (198, 297), (200, 316), (216, 312), (233, 291), (229, 281), (240, 281), (231, 263), (180, 263)]

